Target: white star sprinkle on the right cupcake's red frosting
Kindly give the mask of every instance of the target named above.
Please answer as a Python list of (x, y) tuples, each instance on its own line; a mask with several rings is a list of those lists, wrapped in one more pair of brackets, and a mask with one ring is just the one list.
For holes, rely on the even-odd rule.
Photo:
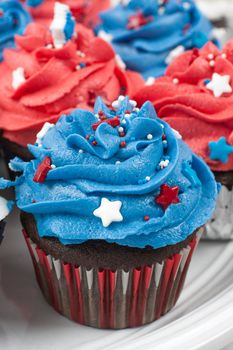
[(221, 97), (224, 93), (231, 93), (230, 75), (214, 73), (211, 81), (206, 85), (207, 89), (213, 91), (215, 97)]

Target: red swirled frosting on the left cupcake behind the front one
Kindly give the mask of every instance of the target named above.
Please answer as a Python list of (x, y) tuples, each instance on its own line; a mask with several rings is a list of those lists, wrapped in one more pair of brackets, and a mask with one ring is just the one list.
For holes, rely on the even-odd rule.
[[(77, 107), (91, 109), (96, 96), (109, 104), (119, 94), (132, 97), (142, 87), (138, 73), (117, 66), (108, 43), (82, 25), (77, 25), (76, 33), (77, 38), (62, 49), (48, 48), (53, 42), (50, 31), (30, 24), (24, 36), (16, 36), (18, 48), (5, 50), (0, 64), (4, 137), (26, 146), (35, 142), (46, 121), (54, 123)], [(84, 68), (77, 70), (79, 64)], [(14, 90), (12, 72), (19, 67), (24, 68), (26, 81)]]

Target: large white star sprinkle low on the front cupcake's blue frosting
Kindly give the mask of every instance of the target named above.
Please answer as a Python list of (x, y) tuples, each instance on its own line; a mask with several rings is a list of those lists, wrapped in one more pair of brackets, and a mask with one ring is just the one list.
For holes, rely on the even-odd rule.
[(102, 220), (104, 227), (108, 227), (112, 222), (123, 221), (123, 216), (120, 212), (121, 207), (121, 201), (111, 202), (107, 198), (102, 198), (99, 208), (97, 208), (93, 214)]

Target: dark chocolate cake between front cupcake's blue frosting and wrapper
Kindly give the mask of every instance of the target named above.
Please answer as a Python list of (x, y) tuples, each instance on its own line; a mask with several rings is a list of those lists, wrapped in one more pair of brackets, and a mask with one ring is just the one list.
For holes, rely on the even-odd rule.
[(63, 245), (56, 238), (40, 238), (33, 215), (21, 212), (21, 222), (31, 240), (55, 259), (86, 268), (108, 268), (128, 270), (135, 266), (160, 263), (178, 254), (193, 240), (195, 231), (185, 241), (164, 248), (144, 249), (110, 244), (103, 240), (90, 240), (78, 245)]

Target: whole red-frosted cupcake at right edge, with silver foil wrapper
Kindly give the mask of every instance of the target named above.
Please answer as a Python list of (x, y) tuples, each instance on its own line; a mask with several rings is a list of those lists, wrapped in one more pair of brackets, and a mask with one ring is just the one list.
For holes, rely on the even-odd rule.
[(219, 51), (212, 43), (177, 58), (166, 76), (136, 96), (150, 100), (159, 117), (176, 128), (222, 184), (211, 239), (233, 238), (233, 41)]

